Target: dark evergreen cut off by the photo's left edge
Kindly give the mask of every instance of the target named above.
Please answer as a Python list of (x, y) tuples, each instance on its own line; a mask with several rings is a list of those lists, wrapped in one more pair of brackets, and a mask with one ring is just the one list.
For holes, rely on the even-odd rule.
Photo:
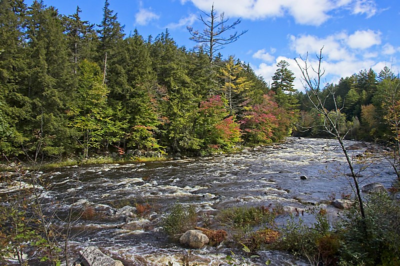
[(17, 155), (25, 140), (25, 122), (30, 117), (26, 86), (26, 5), (22, 0), (0, 1), (0, 153)]

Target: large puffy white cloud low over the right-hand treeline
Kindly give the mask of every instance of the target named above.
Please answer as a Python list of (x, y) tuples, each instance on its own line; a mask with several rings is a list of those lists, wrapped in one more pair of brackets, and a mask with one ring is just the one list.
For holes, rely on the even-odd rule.
[[(318, 65), (315, 55), (319, 55), (323, 46), (321, 67), (326, 72), (322, 77), (323, 84), (321, 86), (326, 83), (337, 83), (341, 77), (351, 76), (362, 69), (372, 68), (376, 73), (379, 73), (383, 66), (387, 65), (387, 62), (378, 61), (377, 58), (382, 58), (382, 54), (393, 55), (400, 52), (400, 47), (394, 47), (389, 43), (380, 45), (380, 32), (372, 30), (355, 31), (352, 34), (342, 31), (325, 37), (289, 35), (288, 40), (289, 47), (297, 53), (297, 57), (302, 56), (304, 58), (305, 54), (308, 53), (307, 63), (313, 67)], [(260, 50), (258, 54), (262, 55), (263, 52), (265, 51)], [(394, 65), (396, 65), (396, 58), (393, 58)], [(275, 59), (275, 62), (264, 62), (255, 66), (254, 71), (262, 75), (267, 82), (272, 82), (271, 77), (276, 70), (276, 63), (280, 60), (286, 60), (290, 64), (290, 70), (296, 76), (294, 80), (295, 88), (304, 91), (301, 83), (301, 72), (293, 59), (279, 56)], [(301, 58), (298, 58), (298, 61), (301, 63)], [(396, 67), (394, 66), (395, 69), (398, 68)], [(309, 70), (311, 71), (310, 74), (316, 77), (311, 68)]]

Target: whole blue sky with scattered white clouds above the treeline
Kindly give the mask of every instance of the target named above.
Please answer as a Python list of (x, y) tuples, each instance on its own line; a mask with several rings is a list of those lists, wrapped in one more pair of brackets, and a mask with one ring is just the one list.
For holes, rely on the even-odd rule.
[[(32, 0), (25, 3), (30, 4)], [(104, 0), (44, 0), (63, 14), (76, 5), (81, 17), (100, 23)], [(201, 10), (209, 13), (212, 3), (230, 21), (238, 17), (235, 30), (248, 30), (220, 52), (249, 63), (270, 81), (280, 60), (289, 62), (302, 89), (300, 72), (293, 60), (304, 56), (315, 60), (323, 48), (325, 81), (337, 82), (362, 69), (379, 72), (385, 65), (394, 73), (400, 69), (400, 3), (398, 0), (109, 0), (125, 33), (137, 29), (144, 38), (155, 37), (168, 28), (178, 46), (192, 48), (186, 26), (202, 29), (197, 19)]]

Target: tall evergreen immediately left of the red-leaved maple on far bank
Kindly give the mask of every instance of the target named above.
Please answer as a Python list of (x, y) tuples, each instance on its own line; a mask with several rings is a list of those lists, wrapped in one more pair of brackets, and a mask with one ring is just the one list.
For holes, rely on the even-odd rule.
[(166, 30), (155, 38), (150, 54), (159, 85), (157, 90), (162, 94), (159, 104), (163, 145), (175, 152), (199, 149), (193, 124), (200, 101), (187, 75), (186, 52), (176, 46)]

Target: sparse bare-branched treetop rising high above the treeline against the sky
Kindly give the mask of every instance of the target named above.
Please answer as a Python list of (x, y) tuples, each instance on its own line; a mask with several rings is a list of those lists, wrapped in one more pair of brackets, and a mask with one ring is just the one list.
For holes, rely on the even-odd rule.
[(198, 18), (205, 25), (202, 32), (193, 30), (193, 27), (190, 26), (187, 26), (187, 30), (191, 35), (191, 40), (204, 44), (204, 50), (208, 53), (210, 61), (212, 61), (216, 51), (222, 49), (224, 45), (236, 41), (241, 35), (246, 33), (247, 30), (243, 30), (241, 33), (235, 31), (233, 34), (225, 35), (227, 34), (227, 31), (234, 29), (235, 26), (241, 22), (240, 18), (236, 19), (231, 24), (227, 24), (229, 17), (225, 18), (224, 12), (217, 15), (214, 9), (214, 4), (211, 6), (209, 14), (204, 11), (202, 12), (205, 16), (203, 17), (200, 15)]

